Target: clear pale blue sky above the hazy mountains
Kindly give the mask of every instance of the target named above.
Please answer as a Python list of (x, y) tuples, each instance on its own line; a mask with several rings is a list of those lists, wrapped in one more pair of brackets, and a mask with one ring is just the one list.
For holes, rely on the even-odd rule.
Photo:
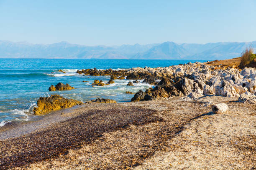
[(0, 40), (82, 45), (256, 40), (256, 0), (0, 0)]

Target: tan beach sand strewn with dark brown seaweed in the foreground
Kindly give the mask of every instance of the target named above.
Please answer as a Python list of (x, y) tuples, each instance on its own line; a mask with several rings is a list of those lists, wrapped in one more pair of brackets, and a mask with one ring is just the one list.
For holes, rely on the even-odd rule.
[[(226, 103), (228, 112), (213, 114), (209, 101)], [(59, 110), (3, 129), (0, 169), (255, 169), (256, 106), (236, 101), (204, 96)]]

